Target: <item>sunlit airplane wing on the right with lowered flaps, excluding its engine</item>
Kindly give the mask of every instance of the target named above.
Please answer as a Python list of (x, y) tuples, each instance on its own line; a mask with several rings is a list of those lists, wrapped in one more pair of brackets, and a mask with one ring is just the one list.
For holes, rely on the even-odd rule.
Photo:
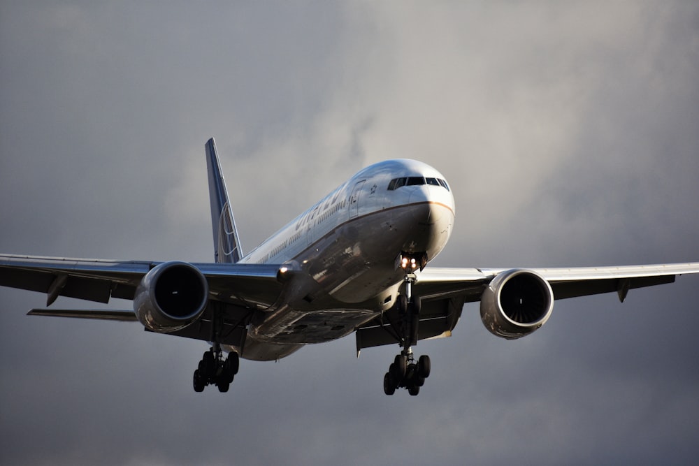
[[(413, 293), (422, 301), (418, 340), (451, 336), (465, 303), (480, 301), (490, 282), (515, 269), (425, 268), (417, 274)], [(624, 265), (619, 267), (533, 268), (549, 282), (554, 300), (617, 292), (624, 302), (630, 289), (675, 282), (677, 275), (699, 273), (699, 263)], [(356, 332), (357, 351), (401, 341), (400, 316), (384, 313)]]

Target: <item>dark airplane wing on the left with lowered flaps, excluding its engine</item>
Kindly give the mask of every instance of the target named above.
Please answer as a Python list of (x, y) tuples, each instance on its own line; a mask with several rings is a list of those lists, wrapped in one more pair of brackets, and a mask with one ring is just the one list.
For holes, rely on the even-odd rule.
[[(149, 261), (106, 261), (0, 254), (0, 286), (47, 294), (46, 305), (58, 296), (108, 303), (110, 298), (133, 300), (143, 277), (159, 265)], [(206, 277), (213, 303), (199, 324), (169, 335), (209, 341), (213, 306), (220, 312), (219, 342), (240, 345), (251, 310), (275, 303), (282, 291), (280, 265), (192, 263)], [(110, 321), (138, 321), (133, 310), (33, 309), (29, 315), (73, 317)]]

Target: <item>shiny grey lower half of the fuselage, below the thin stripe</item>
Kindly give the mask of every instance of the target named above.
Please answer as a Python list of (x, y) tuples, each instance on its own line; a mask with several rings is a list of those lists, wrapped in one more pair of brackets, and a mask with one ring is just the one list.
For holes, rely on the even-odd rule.
[[(349, 335), (394, 304), (405, 275), (397, 265), (401, 252), (433, 258), (449, 238), (452, 221), (451, 211), (435, 215), (430, 205), (412, 205), (364, 215), (324, 235), (295, 258), (303, 276), (295, 296), (252, 328), (249, 340), (262, 355), (278, 351), (275, 345), (296, 351), (294, 345)], [(247, 349), (244, 353), (248, 357)]]

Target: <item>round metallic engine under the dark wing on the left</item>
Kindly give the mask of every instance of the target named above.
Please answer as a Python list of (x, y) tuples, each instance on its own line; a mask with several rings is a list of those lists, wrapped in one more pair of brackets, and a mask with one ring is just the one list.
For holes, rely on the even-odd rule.
[(206, 277), (186, 262), (164, 262), (141, 279), (134, 296), (134, 312), (154, 332), (185, 328), (203, 314), (208, 303)]

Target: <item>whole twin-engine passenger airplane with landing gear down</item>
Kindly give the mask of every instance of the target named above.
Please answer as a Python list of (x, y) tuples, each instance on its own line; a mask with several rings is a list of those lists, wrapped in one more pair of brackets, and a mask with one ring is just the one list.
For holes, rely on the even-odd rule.
[[(240, 358), (277, 361), (306, 344), (354, 333), (361, 349), (401, 348), (384, 393), (417, 395), (431, 372), (419, 340), (449, 337), (465, 303), (480, 301), (498, 337), (533, 333), (554, 300), (667, 284), (699, 262), (596, 268), (434, 268), (454, 226), (454, 196), (419, 161), (375, 163), (340, 184), (247, 255), (243, 254), (215, 141), (206, 162), (213, 263), (108, 261), (0, 254), (0, 285), (133, 310), (33, 309), (33, 316), (138, 321), (148, 332), (209, 342), (194, 391), (229, 391)], [(226, 356), (227, 354), (227, 356)]]

